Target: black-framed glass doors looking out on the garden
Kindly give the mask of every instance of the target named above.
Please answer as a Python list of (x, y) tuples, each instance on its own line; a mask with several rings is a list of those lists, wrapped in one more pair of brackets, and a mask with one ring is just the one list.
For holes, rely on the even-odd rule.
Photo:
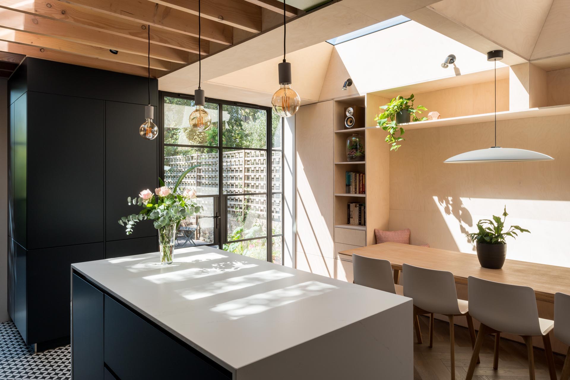
[(282, 263), (282, 127), (271, 108), (206, 100), (206, 132), (189, 128), (192, 96), (161, 93), (163, 178), (200, 165), (181, 187), (196, 189), (200, 215), (181, 223), (177, 247), (209, 245)]

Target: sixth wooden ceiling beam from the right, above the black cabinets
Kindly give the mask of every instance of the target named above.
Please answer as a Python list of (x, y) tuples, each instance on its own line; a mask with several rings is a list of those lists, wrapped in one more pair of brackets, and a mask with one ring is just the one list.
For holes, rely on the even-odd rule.
[[(59, 50), (68, 53), (84, 55), (91, 58), (104, 59), (112, 62), (128, 63), (141, 67), (148, 67), (149, 64), (148, 58), (142, 55), (125, 53), (122, 51), (119, 52), (119, 54), (112, 54), (108, 49), (102, 47), (6, 28), (0, 28), (0, 40), (25, 44), (38, 48)], [(157, 70), (170, 71), (172, 70), (171, 64), (172, 62), (169, 61), (150, 58), (150, 67), (156, 68)]]

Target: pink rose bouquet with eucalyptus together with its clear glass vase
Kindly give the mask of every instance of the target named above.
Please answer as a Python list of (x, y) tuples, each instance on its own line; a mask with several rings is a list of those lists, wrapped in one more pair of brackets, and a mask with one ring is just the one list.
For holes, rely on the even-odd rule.
[(160, 262), (170, 264), (173, 259), (174, 238), (180, 222), (189, 216), (200, 213), (202, 206), (197, 205), (196, 190), (179, 189), (178, 185), (191, 170), (200, 165), (189, 167), (178, 177), (173, 190), (165, 186), (164, 181), (158, 178), (160, 187), (154, 189), (154, 194), (149, 189), (140, 192), (138, 197), (128, 197), (127, 202), (132, 206), (143, 207), (137, 214), (123, 216), (119, 220), (121, 226), (126, 227), (127, 235), (132, 234), (133, 227), (143, 220), (154, 220), (154, 228), (158, 230), (160, 240)]

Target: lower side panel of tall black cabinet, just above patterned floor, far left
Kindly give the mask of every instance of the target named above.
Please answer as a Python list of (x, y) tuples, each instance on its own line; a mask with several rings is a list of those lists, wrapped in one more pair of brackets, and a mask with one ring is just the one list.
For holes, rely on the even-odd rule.
[(26, 308), (26, 250), (14, 242), (15, 270), (14, 270), (14, 324), (22, 338), (27, 342), (27, 308)]

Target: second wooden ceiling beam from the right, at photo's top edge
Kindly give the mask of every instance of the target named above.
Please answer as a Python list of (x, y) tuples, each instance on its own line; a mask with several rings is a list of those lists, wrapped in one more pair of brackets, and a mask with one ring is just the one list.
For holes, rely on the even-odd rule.
[[(198, 0), (154, 0), (156, 3), (198, 15)], [(202, 18), (249, 32), (261, 32), (261, 7), (243, 0), (209, 0), (201, 3)]]

